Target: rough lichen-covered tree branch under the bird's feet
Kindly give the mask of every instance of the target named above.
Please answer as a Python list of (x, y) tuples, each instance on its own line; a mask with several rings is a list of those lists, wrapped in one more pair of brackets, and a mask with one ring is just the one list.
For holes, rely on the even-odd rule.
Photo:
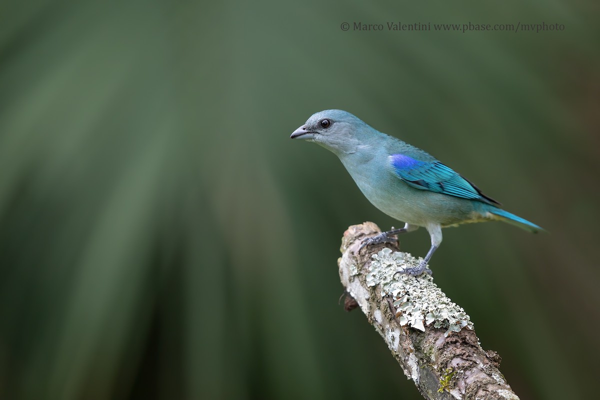
[[(518, 400), (497, 368), (500, 357), (481, 348), (469, 315), (433, 278), (395, 274), (419, 260), (389, 243), (367, 246), (357, 254), (362, 239), (379, 232), (373, 222), (344, 232), (340, 278), (404, 374), (426, 399)], [(346, 309), (356, 303), (347, 298)]]

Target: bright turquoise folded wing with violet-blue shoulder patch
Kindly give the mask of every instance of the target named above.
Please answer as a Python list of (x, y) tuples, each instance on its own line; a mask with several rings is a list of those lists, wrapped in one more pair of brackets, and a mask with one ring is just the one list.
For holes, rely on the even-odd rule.
[(413, 188), (500, 204), (439, 161), (419, 161), (404, 154), (392, 154), (389, 156), (389, 163), (398, 178)]

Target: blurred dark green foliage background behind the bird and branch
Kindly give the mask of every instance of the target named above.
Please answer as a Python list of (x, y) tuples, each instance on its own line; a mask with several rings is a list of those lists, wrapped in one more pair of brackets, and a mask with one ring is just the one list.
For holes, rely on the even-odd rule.
[[(338, 305), (399, 225), (289, 135), (338, 108), (542, 225), (445, 230), (437, 284), (521, 399), (597, 395), (593, 0), (2, 2), (0, 398), (421, 398)], [(562, 23), (343, 32), (341, 22)], [(424, 230), (401, 237), (424, 255)]]

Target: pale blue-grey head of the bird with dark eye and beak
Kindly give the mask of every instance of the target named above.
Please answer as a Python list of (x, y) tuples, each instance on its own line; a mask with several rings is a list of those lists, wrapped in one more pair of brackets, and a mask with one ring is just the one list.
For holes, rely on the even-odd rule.
[[(290, 139), (315, 142), (335, 154), (349, 154), (365, 145), (373, 128), (343, 110), (325, 110), (314, 113), (304, 125), (296, 129)], [(376, 132), (376, 131), (375, 131)]]

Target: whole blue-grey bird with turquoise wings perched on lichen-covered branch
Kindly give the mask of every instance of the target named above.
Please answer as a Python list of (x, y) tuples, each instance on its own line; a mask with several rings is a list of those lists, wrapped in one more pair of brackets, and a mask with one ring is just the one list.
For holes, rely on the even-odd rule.
[(403, 273), (431, 275), (428, 264), (442, 243), (442, 228), (467, 222), (499, 220), (536, 233), (544, 231), (533, 222), (500, 208), (472, 182), (427, 152), (397, 137), (377, 131), (343, 110), (314, 113), (290, 139), (306, 140), (328, 149), (346, 167), (362, 194), (382, 212), (404, 227), (369, 237), (369, 245), (394, 242), (398, 233), (424, 227), (431, 247), (418, 266)]

